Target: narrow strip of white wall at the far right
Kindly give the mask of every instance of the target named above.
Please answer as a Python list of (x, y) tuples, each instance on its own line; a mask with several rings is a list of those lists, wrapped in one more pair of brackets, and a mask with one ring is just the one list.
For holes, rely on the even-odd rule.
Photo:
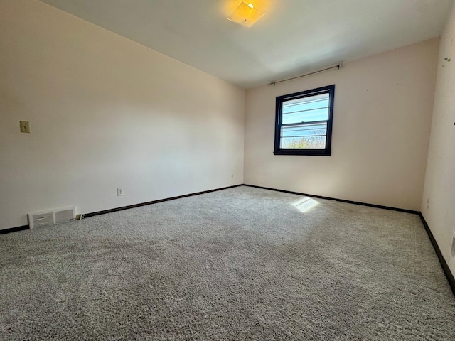
[[(451, 58), (448, 62), (444, 58)], [(444, 259), (449, 259), (455, 231), (455, 5), (441, 36), (434, 94), (432, 133), (421, 212), (432, 230)], [(429, 198), (429, 208), (427, 199)]]

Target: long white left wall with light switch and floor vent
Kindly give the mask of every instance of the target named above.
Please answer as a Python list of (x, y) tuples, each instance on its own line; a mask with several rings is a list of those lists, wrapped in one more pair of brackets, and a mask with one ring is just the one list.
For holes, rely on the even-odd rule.
[(0, 2), (0, 60), (0, 229), (243, 182), (244, 90), (36, 0)]

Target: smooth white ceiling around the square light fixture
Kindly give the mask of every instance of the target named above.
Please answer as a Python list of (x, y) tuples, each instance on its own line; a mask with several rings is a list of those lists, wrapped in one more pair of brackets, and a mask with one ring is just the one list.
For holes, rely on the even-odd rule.
[(453, 0), (42, 0), (240, 87), (303, 74), (440, 35)]

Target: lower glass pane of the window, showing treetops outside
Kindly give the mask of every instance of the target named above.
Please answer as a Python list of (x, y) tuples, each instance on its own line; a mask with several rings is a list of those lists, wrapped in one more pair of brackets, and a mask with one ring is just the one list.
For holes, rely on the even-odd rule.
[(326, 134), (327, 123), (282, 126), (280, 148), (324, 149), (326, 148)]

